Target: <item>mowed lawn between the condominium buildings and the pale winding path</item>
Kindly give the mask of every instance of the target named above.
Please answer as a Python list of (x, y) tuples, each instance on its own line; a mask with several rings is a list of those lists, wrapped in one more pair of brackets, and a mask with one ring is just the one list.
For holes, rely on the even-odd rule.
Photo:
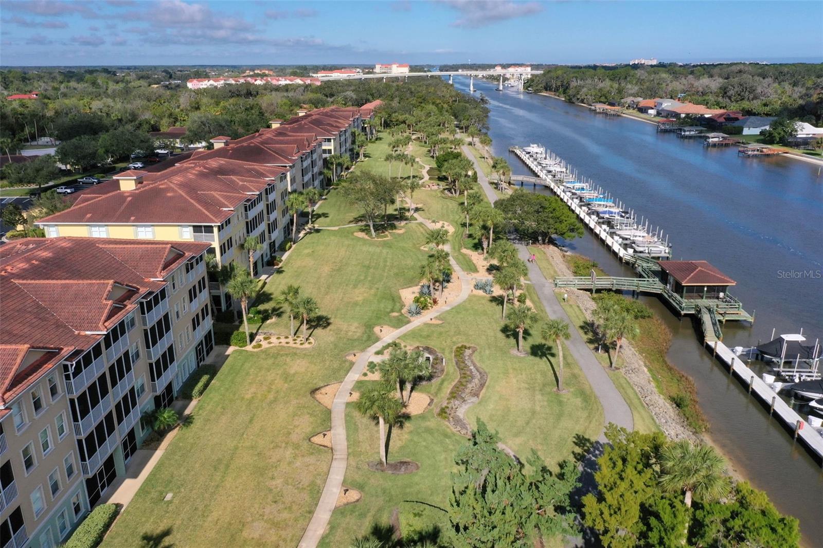
[[(314, 332), (317, 345), (235, 351), (104, 546), (137, 546), (144, 535), (177, 547), (297, 544), (331, 457), (308, 441), (330, 425), (329, 411), (309, 392), (342, 380), (351, 368), (344, 356), (377, 341), (375, 325), (407, 322), (389, 314), (401, 309), (398, 290), (418, 281), (425, 260), (420, 225), (376, 242), (354, 231), (306, 236), (260, 304), (276, 311), (273, 295), (300, 285), (330, 318)], [(287, 326), (281, 315), (266, 328), (286, 333)], [(174, 494), (168, 502), (167, 493)]]

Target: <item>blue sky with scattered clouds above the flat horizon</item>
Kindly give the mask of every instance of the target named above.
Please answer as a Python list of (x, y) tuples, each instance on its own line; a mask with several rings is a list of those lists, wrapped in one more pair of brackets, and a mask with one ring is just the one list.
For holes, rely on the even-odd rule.
[(823, 61), (823, 2), (3, 0), (0, 65)]

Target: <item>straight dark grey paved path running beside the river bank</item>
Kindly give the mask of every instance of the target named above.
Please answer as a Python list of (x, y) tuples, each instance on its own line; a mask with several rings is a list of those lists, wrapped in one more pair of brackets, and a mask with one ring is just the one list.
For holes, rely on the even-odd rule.
[[(468, 146), (463, 146), (463, 154), (468, 156), (469, 160), (472, 160), (474, 169), (477, 171), (477, 182), (480, 183), (489, 201), (492, 204), (495, 203), (497, 201), (497, 195), (494, 189), (491, 188), (486, 174), (480, 169), (477, 158), (474, 157)], [(517, 248), (520, 258), (524, 261), (528, 259), (529, 253), (526, 246), (518, 244)], [(543, 276), (543, 272), (540, 270), (540, 267), (537, 266), (537, 263), (527, 261), (526, 265), (528, 266), (528, 277), (532, 280), (532, 286), (537, 291), (537, 296), (540, 298), (540, 302), (543, 304), (543, 308), (546, 309), (549, 317), (561, 319), (571, 326), (569, 330), (571, 339), (566, 342), (566, 346), (569, 348), (574, 360), (577, 361), (580, 369), (583, 369), (583, 373), (586, 375), (588, 383), (592, 386), (594, 394), (597, 396), (597, 399), (600, 400), (606, 424), (613, 422), (626, 430), (634, 430), (635, 422), (631, 416), (629, 404), (625, 402), (623, 395), (617, 390), (615, 384), (611, 382), (611, 378), (606, 369), (603, 369), (603, 366), (597, 361), (592, 349), (589, 348), (586, 341), (580, 336), (579, 331), (574, 327), (574, 323), (570, 320), (569, 315), (565, 313), (565, 310), (557, 300), (554, 287), (546, 280), (546, 276)], [(602, 432), (599, 440), (601, 442), (606, 441)]]

